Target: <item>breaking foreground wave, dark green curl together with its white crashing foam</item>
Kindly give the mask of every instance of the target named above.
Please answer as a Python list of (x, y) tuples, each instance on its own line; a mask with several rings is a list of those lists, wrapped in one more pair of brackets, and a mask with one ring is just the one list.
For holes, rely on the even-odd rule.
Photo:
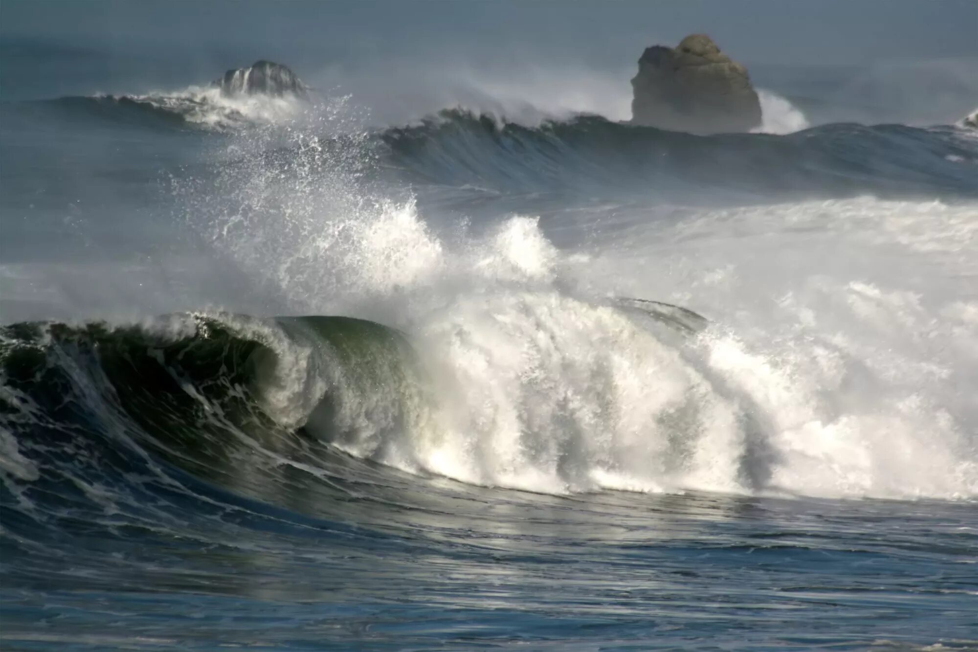
[[(770, 345), (769, 332), (750, 342), (684, 308), (589, 298), (570, 268), (594, 281), (608, 260), (565, 258), (534, 219), (512, 218), (455, 254), (410, 207), (350, 219), (360, 230), (328, 258), (359, 274), (346, 280), (346, 301), (359, 305), (350, 313), (374, 305), (399, 316), (398, 328), (222, 314), (5, 328), (0, 431), (11, 491), (73, 477), (79, 464), (104, 484), (101, 475), (129, 473), (129, 462), (112, 461), (122, 455), (275, 503), (267, 487), (284, 470), (329, 476), (341, 454), (546, 493), (978, 495), (960, 431), (967, 406), (929, 402), (918, 385), (924, 374), (944, 387), (953, 372), (872, 348), (879, 338), (904, 346), (905, 330), (912, 340), (918, 317), (926, 322), (912, 297), (866, 283), (833, 297), (817, 283), (806, 292), (828, 315), (851, 312), (870, 343), (810, 325)], [(303, 252), (289, 247), (288, 264), (269, 265), (278, 244), (263, 242), (256, 262), (292, 274), (279, 279), (290, 292), (337, 301), (341, 288), (324, 281), (342, 270), (316, 257), (321, 276), (304, 278)], [(792, 302), (778, 309), (817, 323)], [(956, 310), (942, 315), (953, 341), (966, 342), (971, 307)], [(75, 452), (66, 460), (59, 450)]]

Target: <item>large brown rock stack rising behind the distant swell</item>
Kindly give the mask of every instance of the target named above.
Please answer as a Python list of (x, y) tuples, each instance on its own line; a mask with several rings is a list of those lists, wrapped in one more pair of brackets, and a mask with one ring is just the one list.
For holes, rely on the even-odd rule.
[(697, 134), (761, 124), (761, 103), (747, 70), (705, 34), (689, 35), (675, 49), (646, 48), (632, 88), (635, 124)]

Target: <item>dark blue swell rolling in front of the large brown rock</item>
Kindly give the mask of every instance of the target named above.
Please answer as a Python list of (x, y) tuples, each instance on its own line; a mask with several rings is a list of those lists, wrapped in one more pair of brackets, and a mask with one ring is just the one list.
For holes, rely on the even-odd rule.
[(978, 147), (952, 127), (840, 123), (694, 136), (600, 116), (530, 127), (453, 110), (381, 139), (410, 179), (497, 191), (978, 196)]

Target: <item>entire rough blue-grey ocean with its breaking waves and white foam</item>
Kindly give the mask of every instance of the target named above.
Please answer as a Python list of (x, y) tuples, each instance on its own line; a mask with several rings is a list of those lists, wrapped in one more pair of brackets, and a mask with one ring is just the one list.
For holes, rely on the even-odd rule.
[(4, 650), (978, 649), (974, 128), (4, 53)]

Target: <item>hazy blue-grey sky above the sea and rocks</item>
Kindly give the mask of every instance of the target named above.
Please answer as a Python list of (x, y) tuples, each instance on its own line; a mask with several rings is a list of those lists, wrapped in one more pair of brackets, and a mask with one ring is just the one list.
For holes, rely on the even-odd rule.
[(619, 68), (692, 32), (745, 64), (976, 57), (978, 0), (0, 3), (0, 38), (292, 62), (569, 57)]

